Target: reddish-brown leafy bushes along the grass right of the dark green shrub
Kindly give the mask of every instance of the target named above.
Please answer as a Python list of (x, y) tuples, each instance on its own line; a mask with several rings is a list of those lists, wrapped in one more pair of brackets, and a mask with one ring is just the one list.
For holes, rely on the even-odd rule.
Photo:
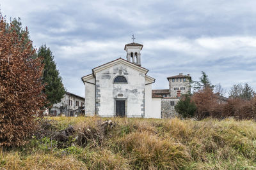
[(211, 89), (205, 88), (193, 94), (192, 101), (196, 104), (195, 117), (198, 119), (228, 118), (256, 120), (256, 97), (250, 101), (241, 98), (228, 99), (227, 103), (219, 103)]

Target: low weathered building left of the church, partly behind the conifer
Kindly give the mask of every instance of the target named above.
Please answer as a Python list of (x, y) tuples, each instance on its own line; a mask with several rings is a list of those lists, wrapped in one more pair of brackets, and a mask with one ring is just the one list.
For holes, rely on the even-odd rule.
[(84, 115), (84, 97), (66, 92), (60, 103), (53, 104), (50, 110), (52, 116), (61, 114), (67, 117)]

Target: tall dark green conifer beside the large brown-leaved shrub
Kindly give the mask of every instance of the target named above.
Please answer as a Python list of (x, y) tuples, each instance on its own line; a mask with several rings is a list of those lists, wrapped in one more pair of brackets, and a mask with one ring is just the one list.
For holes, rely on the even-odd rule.
[(44, 64), (44, 73), (42, 81), (45, 83), (44, 93), (47, 96), (48, 103), (45, 104), (47, 108), (51, 108), (52, 104), (59, 103), (61, 98), (65, 94), (65, 88), (59, 75), (58, 69), (56, 69), (56, 63), (54, 62), (54, 56), (50, 48), (46, 45), (40, 46), (37, 53), (38, 57), (42, 57)]

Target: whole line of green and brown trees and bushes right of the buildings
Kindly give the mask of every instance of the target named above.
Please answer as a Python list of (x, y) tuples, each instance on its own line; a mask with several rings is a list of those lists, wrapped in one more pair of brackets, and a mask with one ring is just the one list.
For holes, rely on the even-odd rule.
[[(256, 119), (256, 94), (248, 83), (244, 86), (235, 84), (225, 94), (225, 90), (218, 85), (212, 85), (207, 74), (202, 71), (202, 76), (198, 81), (191, 81), (193, 94), (185, 94), (182, 99), (175, 105), (175, 111), (182, 118), (195, 117), (202, 119), (205, 117), (214, 118), (253, 118)], [(223, 99), (224, 98), (224, 99)]]

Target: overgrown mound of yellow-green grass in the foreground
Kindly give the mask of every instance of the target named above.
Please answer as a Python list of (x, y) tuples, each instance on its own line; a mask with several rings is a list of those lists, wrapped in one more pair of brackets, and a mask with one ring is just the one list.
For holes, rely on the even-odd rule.
[[(25, 147), (0, 150), (0, 169), (256, 169), (250, 120), (111, 118), (115, 126), (103, 129), (106, 118), (47, 119)], [(70, 125), (65, 143), (52, 137)]]

